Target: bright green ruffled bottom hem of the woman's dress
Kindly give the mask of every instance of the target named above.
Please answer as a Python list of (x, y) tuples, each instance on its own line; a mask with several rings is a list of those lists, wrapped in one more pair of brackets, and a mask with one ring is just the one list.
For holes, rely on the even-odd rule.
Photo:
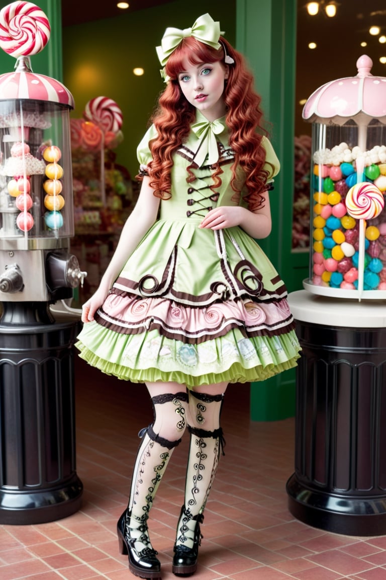
[(283, 371), (288, 371), (297, 365), (298, 353), (292, 359), (280, 364), (269, 364), (266, 367), (258, 365), (252, 368), (244, 368), (240, 362), (234, 362), (231, 366), (220, 373), (208, 373), (200, 376), (192, 376), (181, 371), (161, 371), (159, 368), (133, 369), (121, 364), (106, 361), (96, 356), (81, 342), (75, 346), (80, 350), (79, 356), (91, 366), (98, 368), (106, 375), (116, 376), (118, 379), (128, 380), (132, 383), (146, 382), (177, 382), (186, 385), (188, 389), (200, 385), (214, 385), (215, 383), (247, 383), (269, 379)]

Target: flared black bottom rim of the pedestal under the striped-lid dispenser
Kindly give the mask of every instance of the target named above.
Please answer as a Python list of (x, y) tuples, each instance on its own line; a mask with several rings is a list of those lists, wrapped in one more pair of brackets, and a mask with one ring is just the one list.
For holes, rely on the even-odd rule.
[(80, 509), (82, 492), (82, 482), (76, 475), (46, 490), (1, 490), (0, 524), (44, 524), (72, 516)]

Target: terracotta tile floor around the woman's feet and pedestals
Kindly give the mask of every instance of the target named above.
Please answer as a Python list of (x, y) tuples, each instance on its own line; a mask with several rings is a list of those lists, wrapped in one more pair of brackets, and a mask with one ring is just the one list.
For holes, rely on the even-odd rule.
[[(76, 357), (77, 472), (83, 505), (65, 519), (0, 526), (0, 578), (130, 580), (118, 553), (116, 520), (126, 507), (138, 430), (152, 409), (145, 389), (109, 378)], [(200, 580), (385, 580), (386, 536), (329, 534), (287, 509), (294, 419), (252, 423), (249, 387), (234, 386), (223, 407), (226, 455), (205, 510), (194, 578)], [(171, 572), (175, 524), (183, 499), (188, 441), (175, 450), (152, 512), (150, 534)]]

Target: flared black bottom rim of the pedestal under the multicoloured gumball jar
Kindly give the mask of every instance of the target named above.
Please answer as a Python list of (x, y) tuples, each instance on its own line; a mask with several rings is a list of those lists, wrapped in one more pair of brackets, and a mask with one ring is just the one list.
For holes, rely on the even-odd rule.
[(289, 511), (304, 524), (347, 536), (386, 534), (385, 496), (347, 498), (325, 493), (302, 485), (295, 474), (286, 491)]

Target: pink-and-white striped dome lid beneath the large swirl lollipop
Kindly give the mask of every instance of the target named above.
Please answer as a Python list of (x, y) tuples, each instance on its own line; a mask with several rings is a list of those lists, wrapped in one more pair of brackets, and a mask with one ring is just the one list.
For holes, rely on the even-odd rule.
[(45, 75), (32, 73), (29, 58), (20, 56), (13, 73), (0, 75), (0, 100), (32, 99), (60, 103), (74, 108), (74, 100), (61, 82)]

